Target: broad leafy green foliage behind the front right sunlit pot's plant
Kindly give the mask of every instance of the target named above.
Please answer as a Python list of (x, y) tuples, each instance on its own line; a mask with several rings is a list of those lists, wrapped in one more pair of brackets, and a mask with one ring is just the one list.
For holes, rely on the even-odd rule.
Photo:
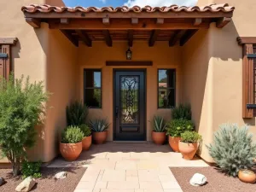
[(166, 125), (166, 135), (172, 137), (181, 137), (184, 131), (193, 131), (194, 124), (187, 119), (172, 119)]

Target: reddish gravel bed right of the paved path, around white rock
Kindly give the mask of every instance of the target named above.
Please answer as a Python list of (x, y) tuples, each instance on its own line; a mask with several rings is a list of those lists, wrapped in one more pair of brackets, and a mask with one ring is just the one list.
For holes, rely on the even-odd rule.
[[(213, 166), (193, 168), (171, 168), (183, 192), (255, 192), (256, 183), (242, 183), (238, 177), (228, 177)], [(190, 178), (196, 173), (207, 177), (207, 184), (201, 187), (190, 185)]]

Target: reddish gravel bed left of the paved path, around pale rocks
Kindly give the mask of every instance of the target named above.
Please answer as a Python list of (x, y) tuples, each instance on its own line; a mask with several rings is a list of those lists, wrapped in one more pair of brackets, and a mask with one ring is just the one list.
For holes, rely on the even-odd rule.
[[(84, 175), (85, 168), (42, 168), (42, 177), (36, 179), (36, 185), (32, 191), (35, 192), (73, 192)], [(61, 180), (55, 180), (57, 172), (67, 172), (67, 177)], [(7, 183), (0, 186), (0, 191), (14, 192), (15, 188), (22, 181), (21, 177), (14, 178), (10, 169), (0, 169), (0, 177), (3, 177)]]

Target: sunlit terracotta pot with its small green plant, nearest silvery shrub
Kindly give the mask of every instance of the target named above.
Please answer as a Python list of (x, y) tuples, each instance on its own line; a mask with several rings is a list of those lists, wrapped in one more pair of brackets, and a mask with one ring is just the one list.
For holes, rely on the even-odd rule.
[(184, 160), (192, 160), (198, 148), (198, 142), (201, 141), (201, 135), (195, 131), (185, 131), (181, 134), (181, 140), (178, 143), (180, 153)]

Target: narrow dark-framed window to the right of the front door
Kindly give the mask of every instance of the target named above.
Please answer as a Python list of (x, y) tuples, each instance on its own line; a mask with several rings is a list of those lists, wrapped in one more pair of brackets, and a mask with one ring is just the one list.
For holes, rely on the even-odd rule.
[(174, 108), (176, 69), (158, 69), (158, 108)]

